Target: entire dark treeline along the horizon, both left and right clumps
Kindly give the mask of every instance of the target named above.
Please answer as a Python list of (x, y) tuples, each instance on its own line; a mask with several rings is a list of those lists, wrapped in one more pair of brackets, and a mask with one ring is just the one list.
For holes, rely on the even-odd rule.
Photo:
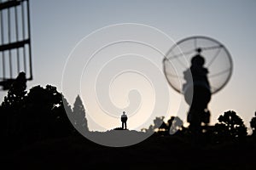
[[(47, 85), (45, 88), (35, 86), (26, 91), (26, 78), (23, 73), (20, 73), (3, 99), (0, 117), (2, 154), (19, 150), (38, 141), (79, 136), (76, 126), (84, 129), (84, 132), (90, 132), (85, 118), (84, 105), (79, 96), (72, 107), (67, 103), (63, 94), (53, 86)], [(164, 122), (164, 118), (156, 117), (154, 124), (143, 128), (142, 131), (154, 133), (150, 138), (178, 138), (184, 143), (193, 143), (189, 128), (183, 127), (183, 121), (180, 118), (172, 116), (167, 122)], [(247, 127), (235, 111), (227, 111), (218, 117), (218, 123), (214, 126), (201, 127), (200, 139), (196, 141), (203, 146), (225, 143), (254, 144), (256, 142), (256, 113), (250, 125), (253, 129), (252, 135), (247, 134)]]

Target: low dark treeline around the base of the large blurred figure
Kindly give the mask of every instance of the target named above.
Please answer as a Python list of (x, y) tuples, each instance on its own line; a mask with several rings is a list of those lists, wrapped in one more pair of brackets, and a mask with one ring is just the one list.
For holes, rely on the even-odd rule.
[[(183, 121), (172, 116), (167, 122), (165, 117), (156, 117), (154, 124), (148, 128), (143, 128), (145, 133), (152, 133), (160, 136), (173, 135), (193, 142), (193, 135), (189, 127), (183, 127)], [(224, 144), (236, 143), (244, 144), (247, 139), (253, 139), (256, 142), (256, 112), (250, 122), (253, 133), (247, 133), (247, 127), (241, 117), (235, 111), (226, 111), (218, 117), (218, 123), (214, 126), (201, 126), (201, 136), (195, 142), (199, 144)]]

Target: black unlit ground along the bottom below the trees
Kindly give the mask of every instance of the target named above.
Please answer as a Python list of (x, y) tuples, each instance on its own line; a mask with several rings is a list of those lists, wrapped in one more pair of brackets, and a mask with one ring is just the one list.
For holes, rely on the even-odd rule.
[(142, 143), (113, 148), (82, 136), (48, 139), (2, 158), (5, 169), (256, 169), (256, 144), (195, 147), (178, 137), (151, 136)]

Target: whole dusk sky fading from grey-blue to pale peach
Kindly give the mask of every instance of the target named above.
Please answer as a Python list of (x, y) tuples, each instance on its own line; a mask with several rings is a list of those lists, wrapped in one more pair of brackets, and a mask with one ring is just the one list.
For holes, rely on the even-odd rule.
[[(91, 130), (118, 127), (123, 110), (131, 116), (131, 129), (148, 127), (154, 116), (180, 116), (185, 122), (188, 108), (163, 76), (163, 56), (146, 49), (145, 43), (109, 45), (86, 67), (89, 54), (124, 37), (149, 42), (166, 53), (174, 42), (197, 35), (222, 42), (234, 64), (230, 82), (212, 95), (211, 123), (224, 111), (233, 110), (249, 127), (256, 111), (254, 0), (31, 0), (30, 9), (34, 79), (27, 87), (51, 84), (63, 92), (70, 105), (79, 94)], [(98, 74), (97, 68), (106, 71)], [(92, 97), (92, 92), (100, 99)], [(2, 99), (5, 94), (1, 92)]]

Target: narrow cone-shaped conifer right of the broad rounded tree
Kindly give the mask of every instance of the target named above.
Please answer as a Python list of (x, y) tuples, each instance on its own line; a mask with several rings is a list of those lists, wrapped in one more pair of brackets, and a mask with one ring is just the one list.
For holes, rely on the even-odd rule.
[(79, 95), (73, 104), (73, 116), (74, 116), (73, 124), (75, 125), (75, 127), (88, 132), (89, 128), (87, 125), (87, 120), (85, 118), (84, 105)]

